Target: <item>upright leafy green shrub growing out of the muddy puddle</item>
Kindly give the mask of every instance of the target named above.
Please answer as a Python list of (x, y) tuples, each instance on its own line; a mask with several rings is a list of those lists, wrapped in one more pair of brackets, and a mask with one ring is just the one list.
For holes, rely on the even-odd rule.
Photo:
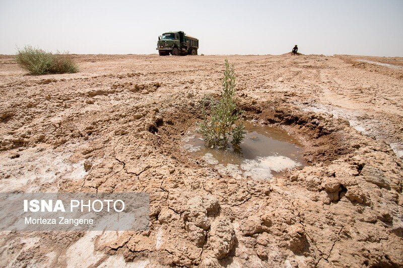
[[(241, 117), (243, 111), (236, 107), (235, 80), (234, 65), (226, 59), (220, 100), (205, 97), (201, 108), (203, 121), (198, 124), (197, 131), (204, 136), (209, 147), (224, 148), (232, 138), (232, 146), (239, 148), (246, 133)], [(210, 116), (206, 106), (210, 106)]]

